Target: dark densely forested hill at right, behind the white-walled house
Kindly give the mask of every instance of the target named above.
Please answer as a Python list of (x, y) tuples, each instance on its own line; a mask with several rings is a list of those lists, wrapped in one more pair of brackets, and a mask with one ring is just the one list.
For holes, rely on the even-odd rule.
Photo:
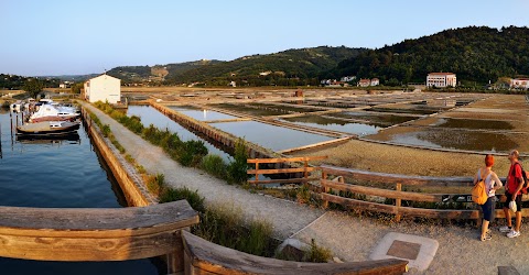
[(468, 26), (369, 50), (321, 77), (356, 75), (381, 82), (424, 82), (428, 73), (451, 72), (458, 81), (493, 82), (529, 75), (529, 29)]

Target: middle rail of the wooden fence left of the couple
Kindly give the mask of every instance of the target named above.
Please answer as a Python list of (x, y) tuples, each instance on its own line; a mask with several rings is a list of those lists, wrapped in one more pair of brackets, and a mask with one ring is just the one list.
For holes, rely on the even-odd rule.
[(390, 189), (380, 189), (375, 187), (336, 183), (327, 179), (321, 179), (320, 184), (323, 187), (332, 188), (334, 190), (350, 191), (350, 193), (357, 193), (357, 194), (364, 194), (364, 195), (370, 195), (370, 196), (379, 196), (385, 198), (404, 199), (404, 200), (414, 200), (414, 201), (441, 202), (442, 196), (443, 196), (441, 194), (419, 194), (419, 193), (409, 193), (409, 191), (397, 191), (397, 190), (390, 190)]

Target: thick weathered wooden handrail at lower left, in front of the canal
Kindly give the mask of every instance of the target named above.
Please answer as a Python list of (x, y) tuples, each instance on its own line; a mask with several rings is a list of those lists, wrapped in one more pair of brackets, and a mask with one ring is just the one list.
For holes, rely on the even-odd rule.
[(0, 256), (40, 261), (123, 261), (182, 248), (198, 223), (187, 201), (129, 208), (0, 207)]

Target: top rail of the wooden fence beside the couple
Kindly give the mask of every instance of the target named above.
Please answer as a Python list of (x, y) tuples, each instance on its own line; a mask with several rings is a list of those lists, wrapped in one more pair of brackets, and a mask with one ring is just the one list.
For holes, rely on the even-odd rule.
[(409, 176), (387, 173), (368, 172), (360, 169), (335, 167), (330, 165), (321, 165), (322, 172), (328, 175), (353, 177), (358, 180), (370, 180), (387, 184), (402, 184), (414, 186), (471, 186), (472, 177), (428, 177), (428, 176)]

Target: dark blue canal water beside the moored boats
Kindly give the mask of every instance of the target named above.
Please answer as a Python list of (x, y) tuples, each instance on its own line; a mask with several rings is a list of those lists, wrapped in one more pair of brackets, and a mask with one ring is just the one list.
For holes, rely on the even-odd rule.
[[(14, 124), (14, 120), (13, 120)], [(123, 194), (82, 127), (65, 139), (22, 140), (0, 108), (0, 205), (126, 207)], [(53, 252), (51, 252), (53, 253)], [(45, 262), (0, 257), (0, 274), (159, 274), (154, 261)]]

